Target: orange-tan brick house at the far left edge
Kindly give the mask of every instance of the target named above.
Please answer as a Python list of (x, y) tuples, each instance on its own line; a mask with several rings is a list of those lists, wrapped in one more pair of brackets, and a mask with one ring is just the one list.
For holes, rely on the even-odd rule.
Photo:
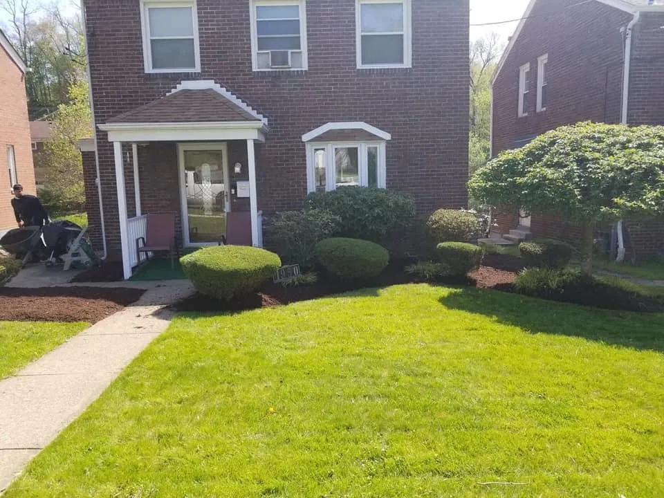
[(25, 75), (27, 67), (0, 30), (0, 233), (16, 228), (11, 207), (12, 185), (21, 183), (35, 193), (35, 169), (30, 150), (30, 124)]

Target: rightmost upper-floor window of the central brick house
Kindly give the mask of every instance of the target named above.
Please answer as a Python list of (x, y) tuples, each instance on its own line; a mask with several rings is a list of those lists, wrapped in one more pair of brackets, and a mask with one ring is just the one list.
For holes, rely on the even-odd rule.
[(358, 68), (411, 66), (411, 0), (356, 0)]

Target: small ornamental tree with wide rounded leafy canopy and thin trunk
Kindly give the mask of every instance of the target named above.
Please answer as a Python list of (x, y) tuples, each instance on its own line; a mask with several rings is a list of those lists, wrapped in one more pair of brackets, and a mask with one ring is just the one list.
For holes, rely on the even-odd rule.
[(578, 222), (590, 272), (596, 223), (664, 214), (664, 127), (560, 127), (491, 160), (468, 190), (489, 205), (557, 211)]

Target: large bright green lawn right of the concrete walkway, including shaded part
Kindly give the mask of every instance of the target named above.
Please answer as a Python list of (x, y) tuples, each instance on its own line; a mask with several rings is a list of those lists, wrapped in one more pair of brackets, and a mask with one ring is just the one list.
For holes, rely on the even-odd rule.
[(663, 392), (664, 315), (424, 284), (185, 315), (4, 498), (664, 496)]

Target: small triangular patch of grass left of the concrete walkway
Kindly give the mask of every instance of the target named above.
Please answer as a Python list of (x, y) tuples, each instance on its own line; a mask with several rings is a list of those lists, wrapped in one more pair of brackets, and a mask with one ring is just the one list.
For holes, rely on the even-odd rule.
[(87, 326), (85, 323), (0, 322), (0, 378), (15, 374)]

